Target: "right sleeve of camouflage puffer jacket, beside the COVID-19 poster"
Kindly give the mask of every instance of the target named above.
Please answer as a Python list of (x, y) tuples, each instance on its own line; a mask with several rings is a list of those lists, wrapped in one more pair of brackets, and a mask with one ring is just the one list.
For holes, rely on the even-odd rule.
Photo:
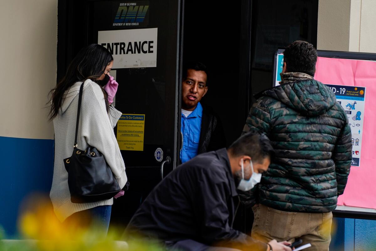
[(335, 164), (335, 172), (337, 175), (337, 195), (340, 196), (345, 190), (347, 177), (350, 173), (352, 160), (352, 143), (351, 128), (347, 116), (344, 116), (346, 123), (341, 129), (340, 136), (334, 148), (332, 159)]

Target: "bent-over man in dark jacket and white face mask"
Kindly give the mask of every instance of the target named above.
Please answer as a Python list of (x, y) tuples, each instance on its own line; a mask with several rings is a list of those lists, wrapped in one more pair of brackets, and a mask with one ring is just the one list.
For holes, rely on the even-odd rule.
[(232, 228), (239, 202), (236, 189), (252, 189), (272, 155), (265, 134), (249, 132), (228, 150), (193, 158), (155, 187), (129, 228), (162, 240), (171, 250), (291, 251), (288, 242), (263, 243)]

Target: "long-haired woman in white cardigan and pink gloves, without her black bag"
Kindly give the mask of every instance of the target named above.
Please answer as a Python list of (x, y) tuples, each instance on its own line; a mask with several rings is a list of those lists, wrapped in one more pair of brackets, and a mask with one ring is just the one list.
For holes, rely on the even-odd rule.
[(50, 198), (56, 216), (62, 222), (96, 219), (106, 231), (113, 198), (72, 203), (63, 160), (72, 155), (79, 90), (84, 82), (77, 145), (79, 149), (95, 147), (105, 157), (120, 188), (126, 184), (124, 161), (113, 129), (121, 116), (121, 112), (111, 105), (118, 86), (109, 75), (113, 60), (111, 53), (99, 44), (83, 48), (69, 65), (64, 78), (51, 90), (50, 100), (50, 119), (55, 129), (55, 164)]

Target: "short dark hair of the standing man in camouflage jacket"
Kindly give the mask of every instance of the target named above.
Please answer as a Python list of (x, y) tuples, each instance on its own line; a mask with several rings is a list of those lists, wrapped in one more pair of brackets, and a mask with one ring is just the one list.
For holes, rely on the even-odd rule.
[(315, 76), (317, 51), (312, 44), (295, 41), (286, 47), (283, 54), (288, 72), (302, 72)]

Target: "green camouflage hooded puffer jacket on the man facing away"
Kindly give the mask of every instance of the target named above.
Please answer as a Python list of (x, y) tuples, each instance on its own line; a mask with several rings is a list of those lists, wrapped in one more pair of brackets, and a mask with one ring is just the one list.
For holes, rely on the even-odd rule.
[(314, 79), (304, 79), (284, 81), (256, 98), (243, 133), (265, 132), (276, 151), (253, 190), (256, 199), (283, 211), (334, 210), (352, 159), (350, 126), (334, 93)]

